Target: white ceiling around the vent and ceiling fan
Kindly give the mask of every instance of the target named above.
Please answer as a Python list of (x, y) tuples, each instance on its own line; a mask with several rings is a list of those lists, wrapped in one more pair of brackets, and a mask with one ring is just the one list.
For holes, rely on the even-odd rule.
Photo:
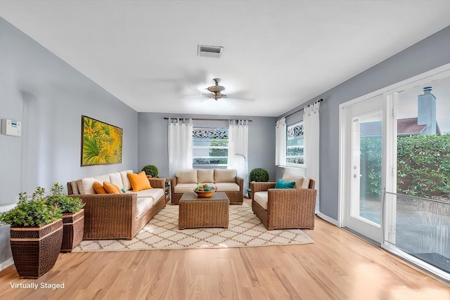
[[(2, 18), (138, 112), (272, 117), (449, 26), (449, 12), (449, 0), (0, 0)], [(252, 100), (200, 100), (214, 77)]]

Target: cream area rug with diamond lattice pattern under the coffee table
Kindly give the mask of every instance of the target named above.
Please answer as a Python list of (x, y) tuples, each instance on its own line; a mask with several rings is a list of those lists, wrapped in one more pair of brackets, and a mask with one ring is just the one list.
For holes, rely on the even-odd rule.
[(300, 229), (266, 230), (247, 205), (230, 205), (229, 228), (178, 229), (178, 205), (168, 204), (133, 240), (84, 240), (72, 252), (259, 247), (309, 244)]

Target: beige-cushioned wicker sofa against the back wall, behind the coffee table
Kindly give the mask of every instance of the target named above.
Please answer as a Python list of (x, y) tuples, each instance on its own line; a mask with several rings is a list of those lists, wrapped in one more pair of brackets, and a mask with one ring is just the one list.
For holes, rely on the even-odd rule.
[(186, 169), (177, 171), (170, 180), (172, 204), (178, 204), (183, 193), (193, 193), (197, 185), (207, 183), (217, 192), (225, 192), (230, 204), (243, 203), (244, 180), (236, 169)]

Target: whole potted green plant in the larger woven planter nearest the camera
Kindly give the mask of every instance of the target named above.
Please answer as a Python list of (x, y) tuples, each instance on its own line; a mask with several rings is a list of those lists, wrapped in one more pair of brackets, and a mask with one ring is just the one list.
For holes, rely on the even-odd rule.
[(63, 214), (46, 202), (44, 193), (38, 187), (30, 200), (20, 193), (18, 204), (0, 214), (0, 221), (11, 225), (11, 252), (21, 278), (41, 277), (53, 268), (60, 252)]

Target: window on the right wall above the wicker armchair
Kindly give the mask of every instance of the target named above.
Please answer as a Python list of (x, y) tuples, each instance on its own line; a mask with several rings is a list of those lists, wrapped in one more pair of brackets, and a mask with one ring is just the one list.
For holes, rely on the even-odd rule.
[(303, 122), (287, 127), (286, 164), (293, 167), (302, 167), (304, 164)]

